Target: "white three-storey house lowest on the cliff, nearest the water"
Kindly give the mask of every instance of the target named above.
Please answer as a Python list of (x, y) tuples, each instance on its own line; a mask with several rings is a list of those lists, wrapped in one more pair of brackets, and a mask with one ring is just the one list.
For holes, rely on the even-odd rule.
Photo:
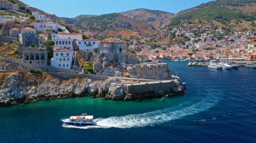
[(51, 66), (56, 68), (71, 69), (73, 52), (68, 49), (56, 49), (53, 51)]

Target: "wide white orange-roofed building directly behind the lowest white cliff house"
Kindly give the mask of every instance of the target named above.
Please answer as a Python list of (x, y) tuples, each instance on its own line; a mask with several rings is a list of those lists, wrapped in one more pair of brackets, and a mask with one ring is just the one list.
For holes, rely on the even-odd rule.
[(52, 34), (52, 41), (55, 42), (55, 46), (60, 49), (69, 49), (73, 50), (73, 42), (81, 41), (82, 34), (81, 33), (59, 33)]

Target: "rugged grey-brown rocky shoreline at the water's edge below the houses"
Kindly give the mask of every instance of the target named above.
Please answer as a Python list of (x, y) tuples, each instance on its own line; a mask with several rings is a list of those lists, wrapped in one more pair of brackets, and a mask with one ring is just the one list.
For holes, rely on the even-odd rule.
[(63, 79), (43, 73), (17, 71), (0, 73), (0, 106), (18, 103), (30, 103), (42, 99), (71, 98), (71, 97), (104, 97), (113, 100), (134, 100), (172, 96), (184, 92), (185, 85), (178, 82), (177, 86), (169, 91), (155, 93), (127, 94), (120, 86), (118, 77), (109, 77), (106, 80), (93, 81), (88, 77)]

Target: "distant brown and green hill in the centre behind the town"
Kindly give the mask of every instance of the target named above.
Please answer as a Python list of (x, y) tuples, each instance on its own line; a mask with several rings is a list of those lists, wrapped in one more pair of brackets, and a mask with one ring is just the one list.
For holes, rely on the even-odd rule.
[(77, 29), (89, 29), (104, 36), (152, 36), (174, 14), (164, 11), (137, 9), (104, 15), (80, 15), (76, 18), (57, 18)]

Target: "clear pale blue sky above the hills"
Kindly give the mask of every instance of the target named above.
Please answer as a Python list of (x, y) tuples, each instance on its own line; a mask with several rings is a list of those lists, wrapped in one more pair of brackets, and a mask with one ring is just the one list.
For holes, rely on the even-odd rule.
[(21, 0), (49, 14), (75, 18), (78, 15), (101, 15), (137, 8), (177, 13), (212, 0)]

